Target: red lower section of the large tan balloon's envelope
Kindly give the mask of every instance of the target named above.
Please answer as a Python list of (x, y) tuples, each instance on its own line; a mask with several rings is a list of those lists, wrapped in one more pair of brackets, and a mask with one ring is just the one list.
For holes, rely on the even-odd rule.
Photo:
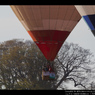
[(70, 32), (57, 30), (28, 31), (47, 60), (53, 61)]

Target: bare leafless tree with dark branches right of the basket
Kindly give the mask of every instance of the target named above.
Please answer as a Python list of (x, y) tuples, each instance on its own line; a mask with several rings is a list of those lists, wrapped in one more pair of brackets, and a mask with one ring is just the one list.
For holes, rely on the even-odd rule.
[(89, 65), (93, 64), (92, 57), (90, 50), (83, 49), (77, 44), (64, 43), (55, 60), (59, 77), (55, 89), (66, 80), (73, 81), (75, 87), (82, 86), (86, 89), (86, 73), (91, 71)]

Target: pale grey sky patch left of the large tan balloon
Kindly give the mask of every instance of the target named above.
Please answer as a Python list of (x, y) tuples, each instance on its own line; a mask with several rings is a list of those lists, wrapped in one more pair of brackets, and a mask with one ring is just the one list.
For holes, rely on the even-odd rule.
[(31, 37), (13, 13), (10, 6), (0, 6), (0, 42), (15, 38), (30, 39)]

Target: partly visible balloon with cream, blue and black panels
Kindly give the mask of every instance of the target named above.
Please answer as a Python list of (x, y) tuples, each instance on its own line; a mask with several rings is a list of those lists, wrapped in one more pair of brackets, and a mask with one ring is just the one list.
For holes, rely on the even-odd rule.
[(95, 36), (95, 5), (76, 5), (75, 7)]

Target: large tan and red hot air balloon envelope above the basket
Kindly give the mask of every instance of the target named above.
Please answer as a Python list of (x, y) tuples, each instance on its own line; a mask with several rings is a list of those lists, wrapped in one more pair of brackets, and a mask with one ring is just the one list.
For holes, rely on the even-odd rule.
[(47, 60), (53, 61), (81, 16), (74, 5), (11, 5)]

